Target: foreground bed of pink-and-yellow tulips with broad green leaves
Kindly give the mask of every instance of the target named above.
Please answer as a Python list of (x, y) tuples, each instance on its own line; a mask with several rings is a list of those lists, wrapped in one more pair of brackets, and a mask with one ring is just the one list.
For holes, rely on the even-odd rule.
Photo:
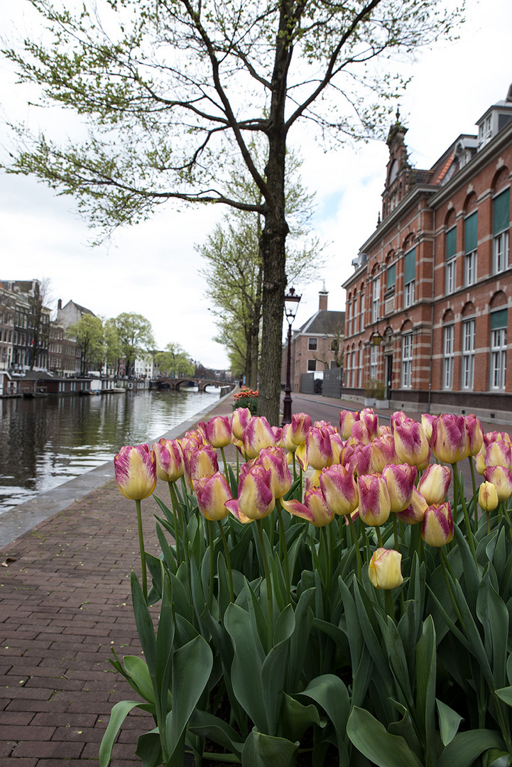
[(139, 525), (144, 657), (113, 660), (139, 700), (113, 706), (100, 765), (135, 706), (155, 720), (147, 767), (510, 764), (511, 463), (474, 416), (386, 427), (368, 409), (279, 430), (238, 408), (121, 449), (138, 517), (156, 476), (170, 502), (155, 496), (159, 558)]

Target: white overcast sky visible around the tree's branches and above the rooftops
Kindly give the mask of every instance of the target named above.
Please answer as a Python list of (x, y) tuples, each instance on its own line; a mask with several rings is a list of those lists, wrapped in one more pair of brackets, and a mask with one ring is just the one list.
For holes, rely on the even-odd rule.
[[(19, 21), (12, 8), (8, 12)], [(412, 81), (399, 109), (417, 168), (432, 166), (459, 134), (475, 133), (476, 120), (506, 97), (512, 83), (512, 0), (468, 0), (466, 17), (458, 41), (422, 51), (407, 67)], [(0, 158), (9, 145), (5, 120), (31, 120), (26, 100), (25, 88), (0, 60)], [(345, 308), (341, 285), (375, 229), (389, 154), (386, 143), (376, 140), (325, 153), (313, 134), (302, 134), (295, 146), (304, 158), (302, 182), (315, 193), (313, 230), (327, 255), (318, 279), (299, 288), (298, 328), (317, 311), (323, 282), (328, 308)], [(51, 305), (60, 298), (103, 317), (143, 314), (158, 347), (172, 341), (206, 367), (228, 367), (224, 349), (212, 340), (214, 307), (195, 250), (224, 212), (222, 206), (177, 210), (167, 203), (149, 221), (92, 248), (94, 232), (71, 197), (0, 171), (0, 279), (48, 278)]]

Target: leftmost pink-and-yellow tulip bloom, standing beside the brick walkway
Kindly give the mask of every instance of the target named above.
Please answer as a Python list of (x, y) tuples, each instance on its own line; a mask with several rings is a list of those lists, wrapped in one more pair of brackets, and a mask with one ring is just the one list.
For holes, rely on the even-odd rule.
[(117, 486), (126, 498), (142, 501), (156, 487), (156, 459), (149, 445), (125, 445), (113, 459)]

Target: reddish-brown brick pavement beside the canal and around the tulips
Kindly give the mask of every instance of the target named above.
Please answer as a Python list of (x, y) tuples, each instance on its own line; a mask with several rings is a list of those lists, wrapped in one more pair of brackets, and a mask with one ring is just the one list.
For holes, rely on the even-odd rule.
[[(333, 423), (340, 407), (356, 406), (303, 395), (294, 404)], [(228, 398), (208, 417), (230, 412)], [(156, 509), (143, 501), (146, 551), (155, 554)], [(140, 652), (130, 597), (130, 570), (139, 572), (135, 504), (107, 482), (3, 548), (0, 563), (8, 565), (0, 569), (0, 767), (94, 762), (113, 703), (135, 696), (108, 660), (110, 647)], [(139, 765), (137, 738), (152, 727), (133, 709), (112, 767)]]

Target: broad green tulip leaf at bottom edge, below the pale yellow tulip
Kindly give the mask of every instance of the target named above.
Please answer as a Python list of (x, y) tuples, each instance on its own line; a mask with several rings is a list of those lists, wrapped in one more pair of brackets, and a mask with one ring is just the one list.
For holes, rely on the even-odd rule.
[(346, 732), (356, 749), (378, 767), (423, 767), (405, 739), (390, 735), (369, 711), (354, 706)]

